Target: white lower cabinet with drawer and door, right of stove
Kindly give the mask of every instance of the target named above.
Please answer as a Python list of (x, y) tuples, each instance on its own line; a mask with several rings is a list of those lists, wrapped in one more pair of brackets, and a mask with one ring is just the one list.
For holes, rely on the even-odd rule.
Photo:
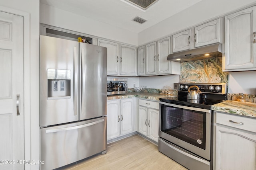
[(256, 169), (256, 119), (214, 112), (215, 169)]

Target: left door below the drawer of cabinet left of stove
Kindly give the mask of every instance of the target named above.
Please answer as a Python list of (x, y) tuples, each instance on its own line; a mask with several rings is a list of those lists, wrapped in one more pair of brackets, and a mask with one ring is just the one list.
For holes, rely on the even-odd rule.
[(138, 132), (147, 136), (147, 127), (148, 127), (148, 115), (147, 115), (147, 107), (139, 106), (138, 113)]

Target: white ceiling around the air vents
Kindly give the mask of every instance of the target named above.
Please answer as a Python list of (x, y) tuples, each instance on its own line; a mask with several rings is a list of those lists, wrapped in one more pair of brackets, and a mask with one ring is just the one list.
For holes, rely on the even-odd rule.
[[(146, 10), (134, 7), (124, 0), (40, 0), (40, 3), (139, 33), (200, 1), (202, 0), (158, 0)], [(136, 16), (147, 21), (137, 23), (133, 21)]]

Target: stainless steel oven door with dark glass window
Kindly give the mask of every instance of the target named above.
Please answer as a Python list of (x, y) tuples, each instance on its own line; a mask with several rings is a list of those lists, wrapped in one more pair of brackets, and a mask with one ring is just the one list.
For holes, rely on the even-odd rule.
[(159, 137), (210, 160), (211, 110), (159, 103)]

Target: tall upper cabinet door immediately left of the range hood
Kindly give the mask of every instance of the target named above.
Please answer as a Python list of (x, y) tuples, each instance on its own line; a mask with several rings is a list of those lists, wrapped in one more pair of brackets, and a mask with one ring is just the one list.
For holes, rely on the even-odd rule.
[(167, 56), (171, 52), (171, 37), (160, 39), (158, 41), (158, 74), (170, 74), (171, 62), (167, 60)]

